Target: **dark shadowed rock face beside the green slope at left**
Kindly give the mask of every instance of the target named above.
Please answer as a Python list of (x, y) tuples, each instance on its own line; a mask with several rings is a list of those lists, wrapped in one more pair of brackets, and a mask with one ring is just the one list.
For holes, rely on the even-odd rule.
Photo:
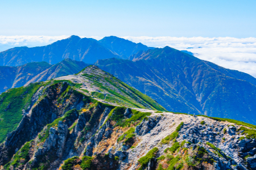
[[(72, 91), (67, 91), (68, 84), (55, 84), (51, 88), (47, 88), (46, 97), (40, 99), (40, 102), (31, 107), (29, 114), (24, 114), (18, 128), (7, 135), (4, 143), (0, 146), (0, 163), (4, 164), (9, 161), (10, 156), (14, 154), (17, 148), (20, 148), (24, 142), (30, 141), (43, 129), (43, 127), (53, 120), (65, 110), (79, 108), (82, 102), (82, 96), (72, 94)], [(40, 91), (43, 88), (39, 89)], [(56, 106), (56, 96), (63, 94), (66, 100), (61, 104), (61, 107)], [(73, 101), (71, 105), (70, 101)], [(31, 126), (27, 126), (31, 125)], [(6, 155), (7, 153), (7, 155)]]

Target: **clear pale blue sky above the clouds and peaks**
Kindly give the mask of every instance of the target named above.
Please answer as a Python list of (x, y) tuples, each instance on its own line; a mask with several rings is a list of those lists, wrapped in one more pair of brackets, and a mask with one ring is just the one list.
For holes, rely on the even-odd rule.
[(2, 1), (0, 35), (256, 37), (256, 1)]

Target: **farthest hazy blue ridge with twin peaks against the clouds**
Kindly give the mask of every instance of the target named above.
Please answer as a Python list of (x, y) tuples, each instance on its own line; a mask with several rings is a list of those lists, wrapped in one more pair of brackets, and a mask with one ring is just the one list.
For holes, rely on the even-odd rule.
[[(119, 48), (118, 48), (119, 46)], [(20, 66), (29, 62), (45, 61), (56, 64), (65, 58), (85, 63), (94, 63), (98, 59), (128, 58), (139, 50), (150, 49), (141, 43), (134, 43), (118, 37), (94, 39), (71, 36), (46, 46), (11, 48), (0, 52), (0, 66)]]

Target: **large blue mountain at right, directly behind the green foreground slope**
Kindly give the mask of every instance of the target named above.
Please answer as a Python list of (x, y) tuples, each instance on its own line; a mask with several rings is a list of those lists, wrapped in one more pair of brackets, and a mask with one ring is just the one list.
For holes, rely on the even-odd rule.
[(236, 118), (254, 123), (255, 78), (166, 47), (104, 59), (102, 70), (152, 97), (169, 111)]

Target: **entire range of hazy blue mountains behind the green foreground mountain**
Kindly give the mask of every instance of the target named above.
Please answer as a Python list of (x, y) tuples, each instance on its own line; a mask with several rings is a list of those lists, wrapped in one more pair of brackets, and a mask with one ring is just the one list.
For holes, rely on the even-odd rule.
[[(87, 58), (92, 59), (88, 63), (96, 61), (94, 65), (150, 96), (168, 111), (256, 123), (256, 79), (249, 74), (193, 57), (189, 52), (168, 46), (150, 48), (114, 36), (99, 41), (71, 36), (47, 46), (26, 48), (26, 55), (21, 55), (19, 50), (12, 52), (14, 50), (0, 53), (0, 58), (10, 65), (19, 65), (27, 62), (26, 57), (36, 58), (39, 53), (43, 57), (39, 57), (40, 62), (22, 66), (2, 66), (1, 92), (11, 87), (75, 74), (89, 65), (82, 62), (88, 61)], [(34, 57), (28, 52), (33, 52)], [(85, 56), (84, 60), (80, 55)], [(8, 58), (11, 59), (6, 60)], [(42, 62), (43, 58), (60, 62), (49, 65)], [(61, 62), (63, 58), (71, 59)], [(49, 60), (47, 62), (50, 63)], [(32, 65), (37, 69), (20, 69)]]

